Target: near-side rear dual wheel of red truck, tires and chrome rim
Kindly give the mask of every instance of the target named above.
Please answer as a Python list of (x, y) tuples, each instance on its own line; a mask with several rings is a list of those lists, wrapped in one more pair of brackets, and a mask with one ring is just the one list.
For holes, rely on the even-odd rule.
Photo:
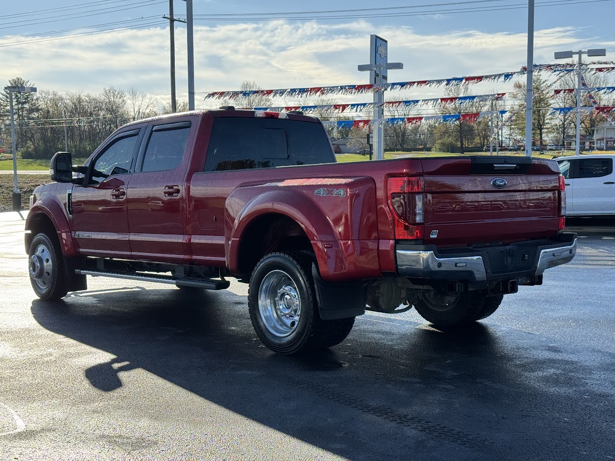
[[(306, 253), (269, 253), (252, 272), (250, 320), (263, 344), (274, 352), (293, 354), (331, 347), (344, 341), (354, 325), (354, 317), (320, 318), (312, 261), (314, 256)], [(276, 305), (282, 307), (276, 309)]]

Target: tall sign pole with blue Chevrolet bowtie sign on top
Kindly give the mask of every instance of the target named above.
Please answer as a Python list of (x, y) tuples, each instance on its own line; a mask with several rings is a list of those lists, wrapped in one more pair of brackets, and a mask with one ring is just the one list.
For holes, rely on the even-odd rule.
[(387, 83), (387, 71), (389, 69), (403, 69), (402, 63), (389, 63), (388, 44), (385, 39), (376, 34), (370, 35), (370, 63), (358, 66), (359, 71), (370, 71), (370, 84), (379, 87), (374, 92), (374, 113), (373, 119), (378, 120), (373, 129), (373, 143), (376, 160), (384, 159), (384, 90), (382, 85)]

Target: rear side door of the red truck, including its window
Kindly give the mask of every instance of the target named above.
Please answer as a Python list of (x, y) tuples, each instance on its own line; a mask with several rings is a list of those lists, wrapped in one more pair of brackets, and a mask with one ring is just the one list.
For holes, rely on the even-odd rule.
[(196, 119), (157, 120), (145, 134), (127, 189), (132, 257), (183, 263), (186, 174)]

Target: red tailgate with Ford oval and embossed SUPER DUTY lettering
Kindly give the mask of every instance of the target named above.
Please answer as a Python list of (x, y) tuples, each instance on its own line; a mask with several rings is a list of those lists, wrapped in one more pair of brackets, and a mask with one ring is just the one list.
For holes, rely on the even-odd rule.
[(528, 157), (423, 160), (425, 243), (552, 237), (560, 226), (555, 162)]

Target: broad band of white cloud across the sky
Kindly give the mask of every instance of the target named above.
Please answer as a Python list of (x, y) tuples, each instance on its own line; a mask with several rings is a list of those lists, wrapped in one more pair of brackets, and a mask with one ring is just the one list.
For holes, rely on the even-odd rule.
[[(535, 61), (551, 62), (560, 49), (578, 49), (579, 29), (536, 31)], [(525, 64), (526, 35), (482, 31), (418, 34), (413, 28), (375, 28), (357, 21), (343, 24), (284, 21), (196, 26), (197, 92), (232, 90), (244, 80), (264, 88), (308, 87), (367, 82), (357, 64), (369, 60), (369, 34), (389, 41), (389, 60), (405, 69), (389, 81), (408, 81), (512, 71)], [(30, 40), (31, 38), (24, 39)], [(178, 97), (186, 98), (186, 34), (175, 34)], [(615, 42), (601, 43), (613, 48)], [(591, 44), (591, 42), (590, 42)], [(98, 93), (103, 87), (137, 87), (168, 98), (169, 30), (151, 28), (0, 48), (0, 81), (23, 77), (40, 89)], [(488, 84), (485, 91), (510, 85)], [(475, 91), (482, 91), (480, 85)], [(424, 89), (413, 97), (438, 96)], [(363, 97), (365, 100), (365, 97)], [(197, 106), (202, 97), (197, 95)]]

